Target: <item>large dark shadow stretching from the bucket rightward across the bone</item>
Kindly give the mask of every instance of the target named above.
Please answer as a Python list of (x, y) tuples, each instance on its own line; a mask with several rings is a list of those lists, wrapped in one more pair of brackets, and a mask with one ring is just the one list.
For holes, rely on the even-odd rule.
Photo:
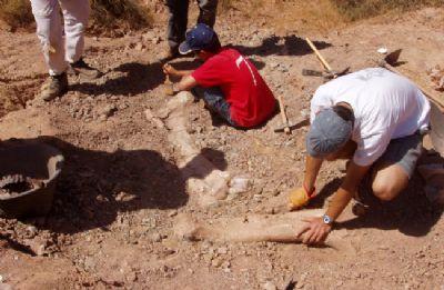
[[(186, 180), (182, 171), (199, 158), (214, 160), (224, 170), (224, 153), (202, 149), (183, 169), (152, 150), (115, 152), (85, 150), (53, 137), (37, 140), (60, 149), (65, 158), (51, 212), (40, 228), (75, 233), (107, 227), (119, 212), (142, 209), (178, 209), (186, 204)], [(211, 172), (200, 171), (203, 179)]]

